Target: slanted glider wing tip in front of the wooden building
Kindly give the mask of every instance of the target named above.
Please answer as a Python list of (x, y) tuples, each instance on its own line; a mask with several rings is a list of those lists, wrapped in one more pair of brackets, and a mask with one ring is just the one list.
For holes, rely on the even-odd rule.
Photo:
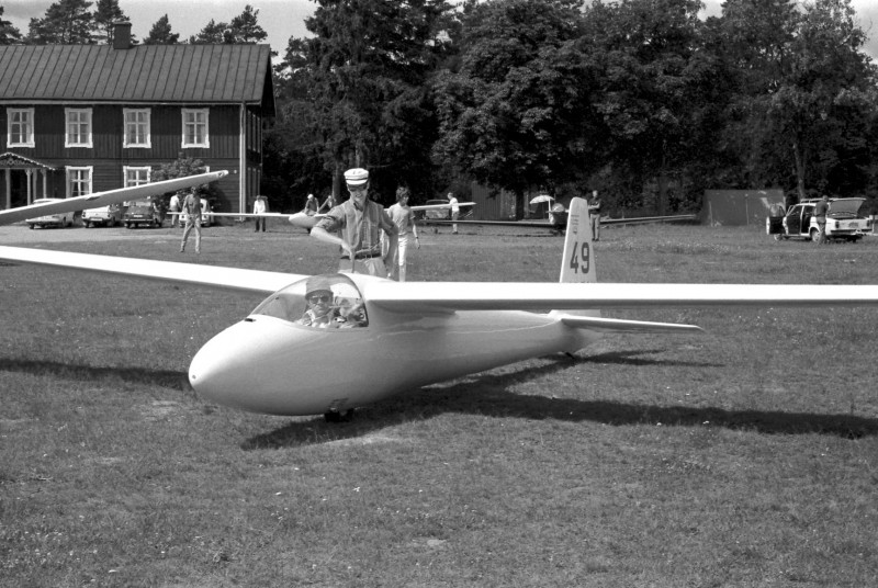
[(109, 190), (106, 192), (95, 192), (93, 194), (64, 199), (58, 202), (46, 202), (44, 204), (20, 206), (18, 208), (10, 208), (9, 211), (0, 211), (0, 225), (10, 225), (12, 223), (19, 223), (21, 220), (26, 220), (27, 218), (45, 216), (47, 214), (70, 213), (85, 211), (86, 208), (99, 208), (109, 204), (121, 204), (130, 200), (157, 196), (168, 192), (176, 192), (178, 190), (185, 190), (195, 185), (215, 182), (224, 176), (228, 176), (228, 172), (225, 170), (212, 171), (210, 173), (199, 173), (198, 176), (175, 178), (173, 180), (164, 180), (161, 182), (119, 188), (116, 190)]

